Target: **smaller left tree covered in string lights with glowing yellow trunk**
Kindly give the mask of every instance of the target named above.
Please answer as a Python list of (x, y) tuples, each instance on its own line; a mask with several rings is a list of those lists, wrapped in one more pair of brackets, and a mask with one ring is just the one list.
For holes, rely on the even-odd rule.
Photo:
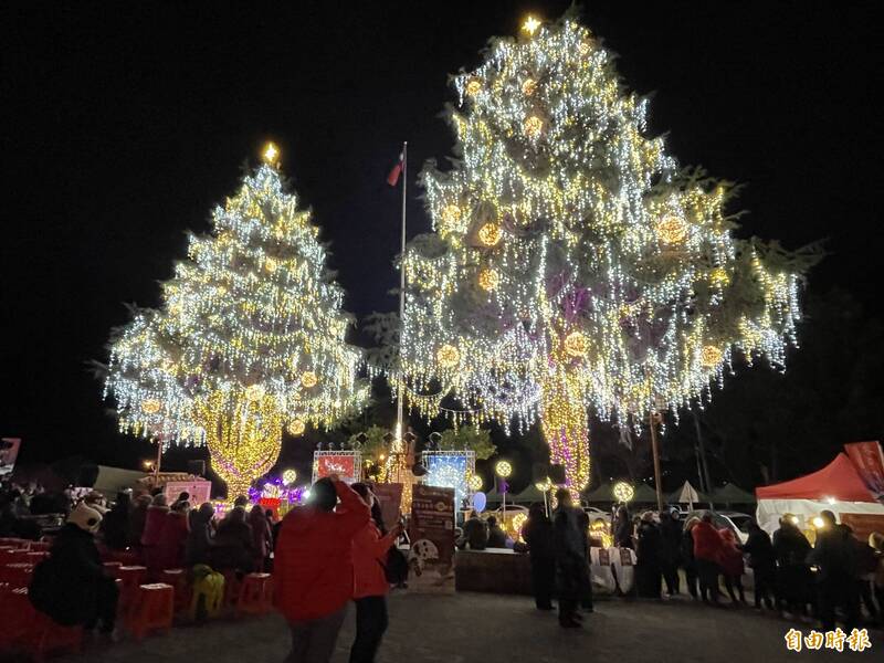
[(272, 145), (264, 156), (211, 233), (190, 236), (161, 307), (116, 330), (105, 390), (122, 430), (206, 443), (229, 496), (273, 466), (284, 427), (301, 435), (368, 396), (318, 228), (285, 191)]

